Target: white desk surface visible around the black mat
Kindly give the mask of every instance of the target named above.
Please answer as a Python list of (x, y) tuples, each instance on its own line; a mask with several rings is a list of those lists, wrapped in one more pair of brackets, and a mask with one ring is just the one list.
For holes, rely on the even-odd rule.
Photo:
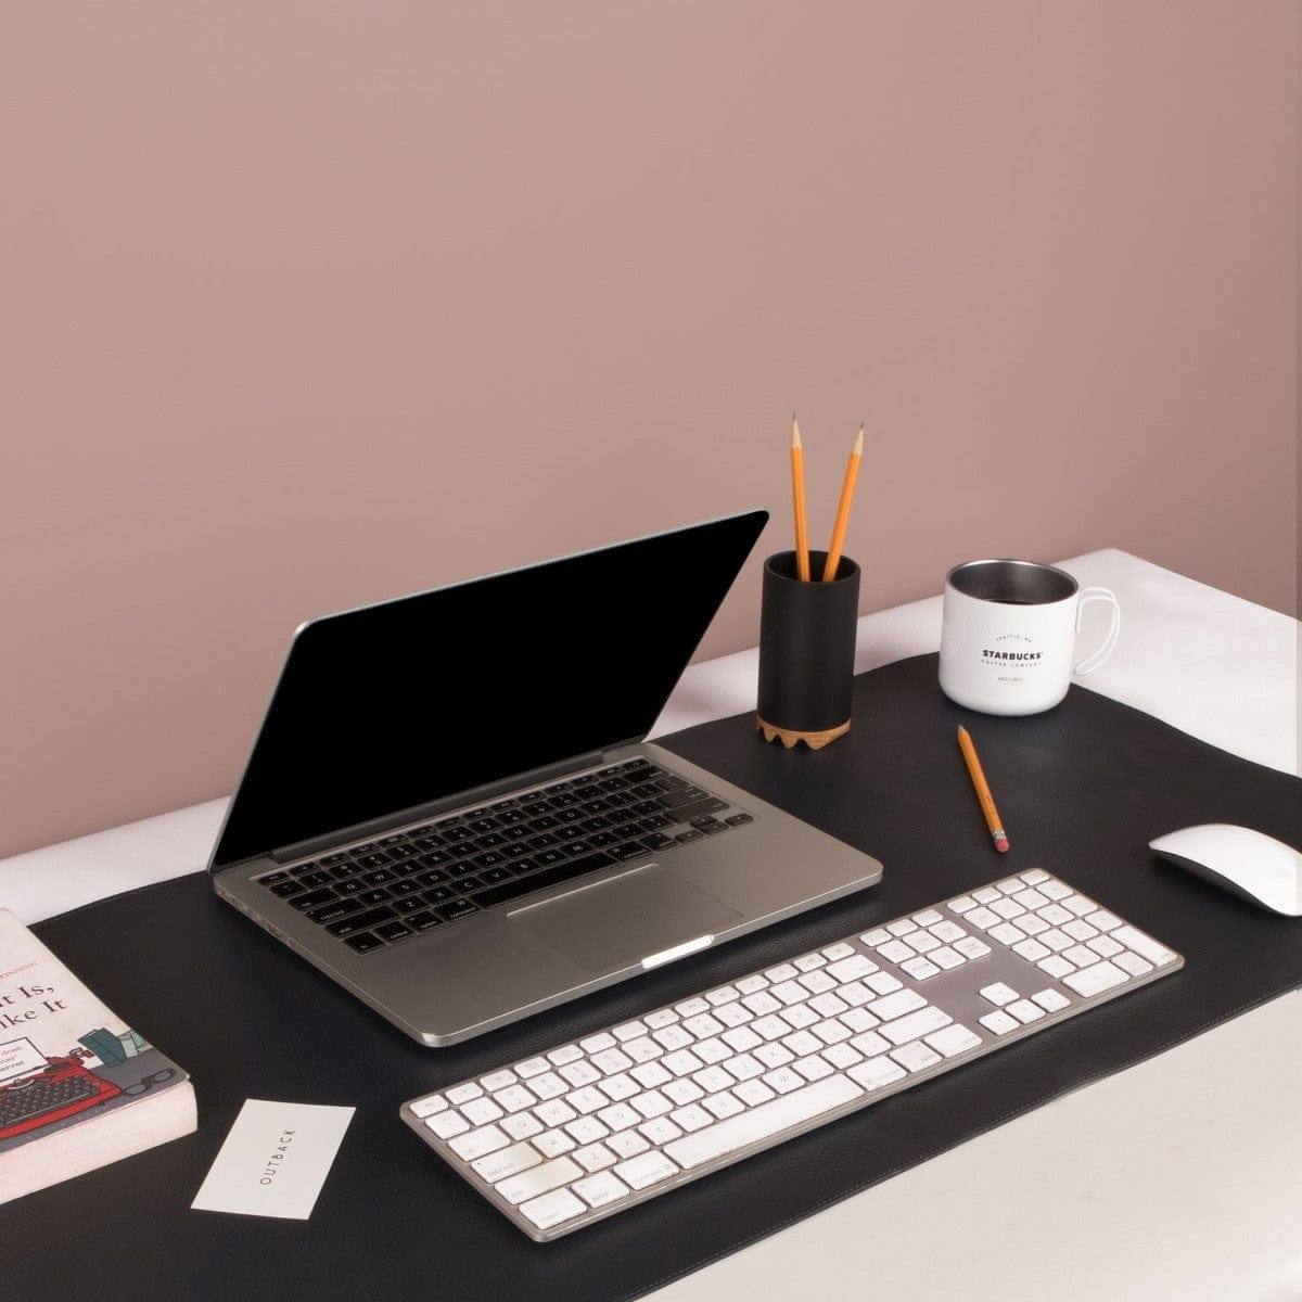
[[(1297, 621), (1115, 549), (1062, 564), (1113, 589), (1122, 605), (1120, 646), (1087, 686), (1298, 771)], [(939, 644), (939, 598), (868, 615), (857, 668)], [(690, 668), (655, 734), (754, 708), (755, 665), (756, 652), (742, 651)], [(0, 861), (0, 904), (36, 922), (198, 872), (224, 806), (208, 801)], [(1297, 1302), (1299, 1172), (1302, 999), (1290, 995), (652, 1297)]]

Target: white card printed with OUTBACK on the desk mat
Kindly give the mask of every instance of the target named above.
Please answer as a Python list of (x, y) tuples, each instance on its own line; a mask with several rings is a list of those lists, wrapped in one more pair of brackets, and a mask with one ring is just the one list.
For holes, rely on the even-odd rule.
[(307, 1220), (355, 1111), (249, 1099), (190, 1206)]

